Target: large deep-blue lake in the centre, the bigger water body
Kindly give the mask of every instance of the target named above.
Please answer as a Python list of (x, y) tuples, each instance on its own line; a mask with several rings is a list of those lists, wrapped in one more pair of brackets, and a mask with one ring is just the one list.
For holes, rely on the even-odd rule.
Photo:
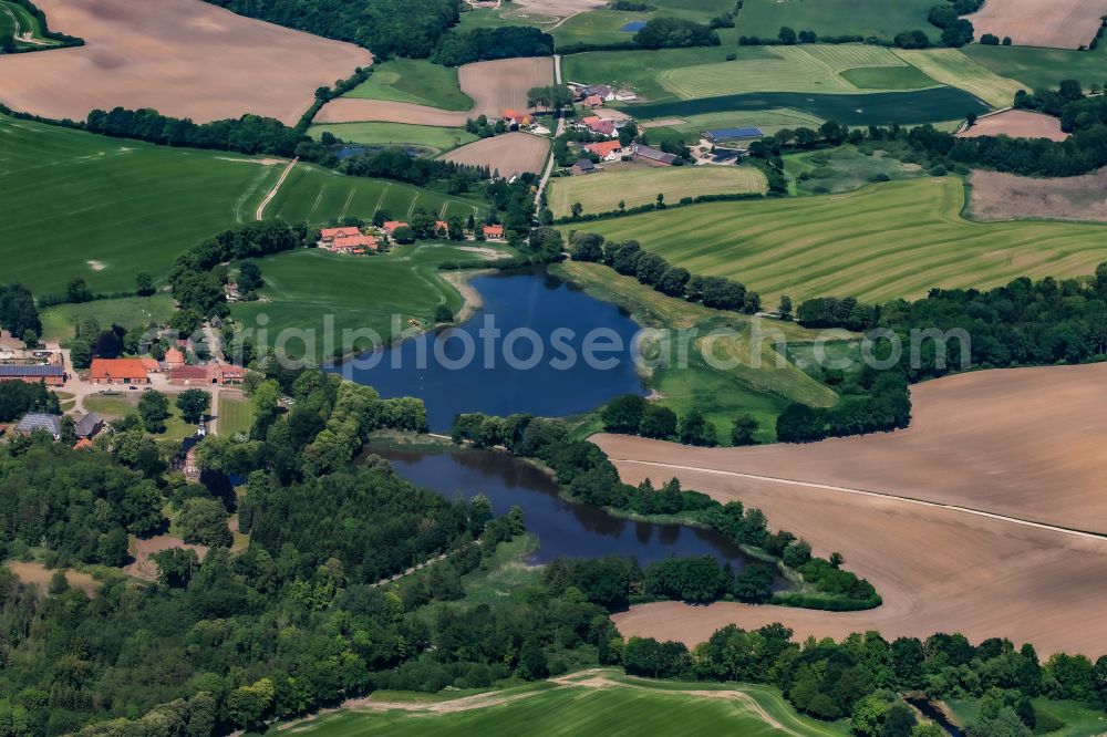
[[(459, 413), (563, 417), (619, 394), (644, 394), (632, 360), (639, 328), (617, 305), (544, 270), (470, 283), (484, 307), (465, 324), (363, 354), (338, 371), (383, 397), (422, 398), (435, 430), (448, 430)], [(371, 357), (375, 366), (355, 366)]]

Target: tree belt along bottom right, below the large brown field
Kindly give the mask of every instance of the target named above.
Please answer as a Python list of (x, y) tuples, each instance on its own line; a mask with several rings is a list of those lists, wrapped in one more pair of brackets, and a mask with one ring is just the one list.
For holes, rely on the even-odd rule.
[(1107, 705), (1107, 656), (1093, 664), (1083, 655), (1056, 654), (1042, 663), (1032, 645), (1016, 648), (993, 637), (973, 646), (961, 634), (889, 643), (870, 632), (797, 645), (779, 624), (752, 631), (732, 624), (692, 652), (681, 643), (631, 637), (622, 662), (632, 675), (772, 684), (800, 712), (825, 720), (848, 717), (855, 734), (868, 737), (940, 734), (914, 726), (913, 713), (897, 696), (914, 691), (931, 698), (982, 698), (970, 735), (1028, 737), (1037, 726), (1028, 700), (1035, 696)]

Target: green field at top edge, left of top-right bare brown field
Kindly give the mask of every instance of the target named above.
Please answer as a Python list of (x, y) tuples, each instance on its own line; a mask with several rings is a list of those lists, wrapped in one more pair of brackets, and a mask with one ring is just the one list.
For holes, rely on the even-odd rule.
[(745, 0), (738, 13), (742, 35), (776, 38), (782, 25), (819, 35), (876, 35), (891, 40), (901, 31), (935, 29), (927, 22), (932, 0)]

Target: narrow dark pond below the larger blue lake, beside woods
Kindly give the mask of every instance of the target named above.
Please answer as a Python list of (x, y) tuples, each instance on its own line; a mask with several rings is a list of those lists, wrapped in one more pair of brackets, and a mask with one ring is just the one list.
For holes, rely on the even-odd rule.
[(742, 550), (711, 530), (683, 525), (655, 525), (613, 517), (592, 505), (558, 496), (558, 486), (536, 466), (492, 450), (421, 451), (368, 448), (392, 461), (401, 476), (416, 486), (454, 498), (472, 499), (483, 494), (493, 512), (504, 515), (513, 506), (523, 508), (527, 530), (538, 536), (540, 547), (531, 562), (554, 558), (634, 556), (640, 563), (670, 556), (711, 554), (731, 561), (735, 570), (748, 558)]

